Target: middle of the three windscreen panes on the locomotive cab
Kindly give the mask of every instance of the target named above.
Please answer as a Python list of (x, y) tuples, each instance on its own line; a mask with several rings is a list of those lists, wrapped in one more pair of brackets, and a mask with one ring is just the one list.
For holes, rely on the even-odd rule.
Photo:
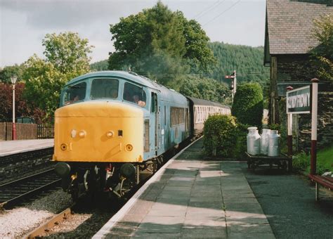
[(119, 81), (117, 79), (93, 79), (91, 99), (118, 98)]

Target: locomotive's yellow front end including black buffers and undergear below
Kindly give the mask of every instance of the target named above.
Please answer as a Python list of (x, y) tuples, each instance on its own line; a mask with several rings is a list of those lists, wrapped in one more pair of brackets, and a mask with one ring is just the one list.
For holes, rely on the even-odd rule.
[(105, 191), (121, 197), (143, 162), (143, 110), (119, 101), (86, 101), (55, 111), (53, 161), (74, 200)]

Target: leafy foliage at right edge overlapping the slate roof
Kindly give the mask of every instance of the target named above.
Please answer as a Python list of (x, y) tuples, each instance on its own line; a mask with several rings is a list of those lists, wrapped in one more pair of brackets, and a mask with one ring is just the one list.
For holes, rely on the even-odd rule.
[(321, 79), (333, 83), (333, 14), (322, 15), (313, 21), (312, 37), (319, 45), (311, 50), (316, 59), (318, 75)]

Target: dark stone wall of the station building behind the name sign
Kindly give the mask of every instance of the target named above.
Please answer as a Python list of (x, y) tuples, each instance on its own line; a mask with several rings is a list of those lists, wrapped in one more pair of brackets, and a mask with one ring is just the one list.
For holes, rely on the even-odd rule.
[[(308, 82), (318, 78), (316, 68), (306, 55), (282, 55), (277, 60), (277, 83), (279, 82)], [(291, 84), (292, 85), (292, 84)], [(298, 88), (295, 86), (294, 88)], [(284, 97), (275, 98), (278, 105), (282, 135), (286, 135), (287, 114)], [(311, 114), (295, 115), (293, 130), (294, 149), (306, 150), (311, 148)], [(297, 122), (296, 122), (297, 121)], [(320, 82), (318, 93), (318, 148), (333, 144), (333, 85)]]

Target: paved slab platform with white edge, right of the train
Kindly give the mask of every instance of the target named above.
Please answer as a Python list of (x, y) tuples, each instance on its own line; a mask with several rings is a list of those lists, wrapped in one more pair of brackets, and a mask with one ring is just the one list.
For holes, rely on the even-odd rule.
[(169, 160), (93, 238), (275, 238), (244, 162), (202, 160), (202, 143)]

